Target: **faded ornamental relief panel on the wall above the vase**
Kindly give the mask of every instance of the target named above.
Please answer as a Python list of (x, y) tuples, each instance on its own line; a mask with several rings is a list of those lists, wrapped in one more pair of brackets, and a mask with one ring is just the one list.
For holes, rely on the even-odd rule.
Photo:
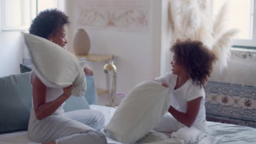
[(78, 4), (79, 27), (143, 31), (148, 28), (147, 0), (85, 0)]

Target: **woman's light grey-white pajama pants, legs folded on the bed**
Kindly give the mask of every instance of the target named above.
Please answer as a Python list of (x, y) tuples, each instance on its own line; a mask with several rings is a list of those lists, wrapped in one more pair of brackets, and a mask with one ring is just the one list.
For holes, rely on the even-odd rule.
[(57, 144), (107, 143), (103, 128), (104, 115), (95, 110), (76, 110), (38, 120), (30, 111), (28, 135), (34, 142)]

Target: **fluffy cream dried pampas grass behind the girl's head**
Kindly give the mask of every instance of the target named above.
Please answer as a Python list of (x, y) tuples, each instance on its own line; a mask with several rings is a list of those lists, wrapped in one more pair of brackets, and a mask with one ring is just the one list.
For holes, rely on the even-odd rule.
[(220, 69), (227, 66), (232, 38), (238, 32), (225, 27), (227, 5), (216, 16), (210, 13), (208, 0), (175, 0), (169, 2), (168, 19), (176, 39), (200, 40), (219, 59)]

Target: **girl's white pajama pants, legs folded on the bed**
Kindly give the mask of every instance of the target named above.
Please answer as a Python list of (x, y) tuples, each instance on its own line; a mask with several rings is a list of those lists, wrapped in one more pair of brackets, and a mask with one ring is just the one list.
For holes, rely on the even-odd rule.
[(192, 125), (187, 127), (184, 124), (177, 121), (171, 113), (165, 113), (165, 116), (161, 119), (160, 123), (153, 129), (163, 133), (172, 133), (171, 137), (184, 140), (184, 143), (189, 143), (195, 140), (206, 129), (206, 121), (203, 122), (200, 128)]

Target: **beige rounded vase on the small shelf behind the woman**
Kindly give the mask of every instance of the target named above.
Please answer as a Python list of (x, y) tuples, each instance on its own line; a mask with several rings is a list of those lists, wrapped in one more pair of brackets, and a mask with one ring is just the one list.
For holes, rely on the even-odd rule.
[(73, 50), (76, 55), (88, 55), (91, 48), (89, 35), (84, 29), (78, 29), (74, 37)]

